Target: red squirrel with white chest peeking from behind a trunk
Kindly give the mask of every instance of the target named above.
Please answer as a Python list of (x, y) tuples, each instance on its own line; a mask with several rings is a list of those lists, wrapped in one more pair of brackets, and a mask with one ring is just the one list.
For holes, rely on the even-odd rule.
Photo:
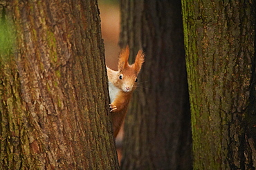
[(138, 73), (144, 62), (142, 50), (138, 51), (135, 63), (129, 65), (129, 47), (127, 46), (119, 54), (118, 71), (111, 70), (107, 67), (107, 76), (109, 78), (109, 97), (111, 104), (110, 112), (113, 123), (113, 136), (116, 138), (129, 105), (131, 94), (136, 89)]

